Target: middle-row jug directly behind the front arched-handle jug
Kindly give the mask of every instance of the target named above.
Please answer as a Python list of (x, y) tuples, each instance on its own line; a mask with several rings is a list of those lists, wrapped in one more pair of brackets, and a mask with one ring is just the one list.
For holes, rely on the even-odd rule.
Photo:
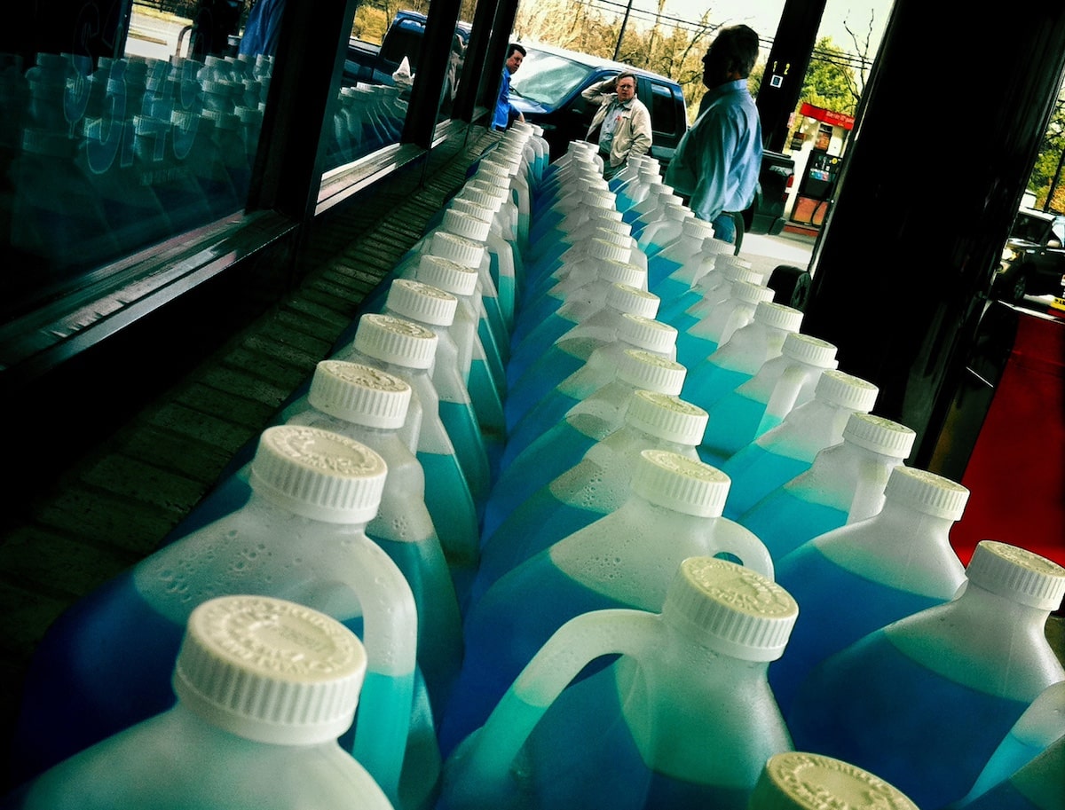
[(440, 726), (446, 755), (485, 722), (507, 685), (573, 616), (660, 610), (686, 557), (727, 552), (772, 579), (761, 542), (721, 517), (728, 478), (678, 453), (643, 450), (619, 509), (497, 579), (466, 613), (465, 658)]

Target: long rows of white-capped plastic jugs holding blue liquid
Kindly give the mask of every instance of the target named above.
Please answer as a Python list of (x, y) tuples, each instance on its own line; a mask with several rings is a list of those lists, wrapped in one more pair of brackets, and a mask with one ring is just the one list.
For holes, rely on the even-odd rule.
[[(337, 806), (325, 766), (233, 742), (255, 721), (201, 728), (217, 681), (170, 708), (182, 633), (229, 594), (358, 637), (358, 711), (289, 738), (329, 757), (340, 738), (365, 768), (337, 789), (353, 807), (365, 774), (366, 804), (402, 808), (930, 810), (1011, 789), (1048, 806), (1018, 772), (1060, 762), (1065, 672), (1043, 626), (1065, 571), (990, 541), (963, 568), (948, 532), (967, 491), (904, 465), (913, 431), (871, 414), (875, 386), (683, 215), (650, 159), (611, 189), (591, 145), (546, 158), (534, 128), (508, 130), (169, 543), (59, 619), (18, 729), (18, 774), (37, 778), (12, 806), (142, 779), (112, 758), (171, 723), (241, 751), (231, 773), (268, 786), (266, 806)], [(670, 309), (700, 317), (663, 319), (686, 296)], [(703, 347), (690, 370), (685, 335)], [(258, 638), (237, 658), (316, 644), (271, 635), (283, 651)], [(260, 716), (260, 689), (292, 710), (281, 726), (321, 716), (285, 685), (241, 710)], [(243, 806), (211, 786), (176, 806)]]

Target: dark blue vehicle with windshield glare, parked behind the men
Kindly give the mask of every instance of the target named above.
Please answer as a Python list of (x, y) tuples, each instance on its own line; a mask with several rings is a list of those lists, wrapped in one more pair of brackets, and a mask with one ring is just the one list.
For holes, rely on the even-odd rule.
[(561, 155), (571, 140), (588, 133), (599, 104), (580, 92), (623, 70), (636, 73), (636, 95), (651, 111), (651, 155), (665, 167), (688, 129), (681, 85), (672, 79), (602, 56), (548, 45), (525, 45), (526, 55), (510, 82), (510, 101), (525, 120), (543, 127), (551, 156)]

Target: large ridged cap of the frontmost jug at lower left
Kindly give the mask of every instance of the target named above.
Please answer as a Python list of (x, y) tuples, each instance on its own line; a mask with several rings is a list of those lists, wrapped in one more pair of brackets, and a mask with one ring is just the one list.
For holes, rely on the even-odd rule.
[(283, 599), (220, 596), (189, 616), (174, 690), (234, 734), (310, 745), (351, 725), (365, 674), (362, 643), (337, 619)]

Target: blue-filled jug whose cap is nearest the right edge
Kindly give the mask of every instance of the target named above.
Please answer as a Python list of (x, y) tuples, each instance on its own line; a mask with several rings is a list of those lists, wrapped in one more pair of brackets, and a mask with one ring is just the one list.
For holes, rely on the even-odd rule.
[(797, 747), (853, 762), (921, 808), (962, 798), (1025, 710), (1065, 670), (1044, 626), (1065, 568), (981, 541), (958, 595), (817, 666), (787, 714)]

